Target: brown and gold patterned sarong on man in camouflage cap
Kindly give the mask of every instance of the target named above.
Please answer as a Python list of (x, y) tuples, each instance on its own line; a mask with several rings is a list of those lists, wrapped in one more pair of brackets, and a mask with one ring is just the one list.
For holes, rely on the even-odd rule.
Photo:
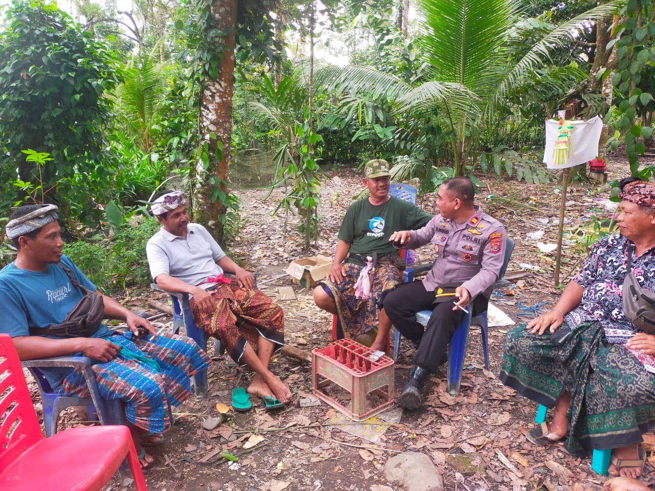
[(341, 283), (335, 283), (329, 276), (319, 284), (326, 285), (334, 296), (339, 312), (339, 322), (347, 338), (354, 338), (375, 329), (378, 325), (378, 304), (384, 291), (394, 289), (402, 280), (400, 270), (392, 264), (378, 264), (371, 281), (368, 299), (355, 296), (355, 283), (365, 266), (346, 263), (346, 274)]

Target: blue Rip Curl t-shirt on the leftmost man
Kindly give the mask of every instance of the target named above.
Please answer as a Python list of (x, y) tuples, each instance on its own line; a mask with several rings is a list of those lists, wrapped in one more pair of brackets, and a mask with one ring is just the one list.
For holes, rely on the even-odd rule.
[[(69, 257), (63, 255), (61, 263), (73, 272), (78, 282), (90, 291), (96, 291), (96, 285), (86, 278)], [(29, 271), (16, 268), (14, 263), (8, 264), (0, 271), (0, 305), (3, 311), (0, 333), (7, 333), (12, 338), (29, 336), (30, 327), (62, 323), (83, 296), (82, 289), (73, 285), (59, 264), (48, 264), (45, 271)], [(109, 329), (102, 325), (92, 337), (102, 338), (107, 335)], [(70, 368), (42, 369), (52, 387), (58, 386), (70, 371)]]

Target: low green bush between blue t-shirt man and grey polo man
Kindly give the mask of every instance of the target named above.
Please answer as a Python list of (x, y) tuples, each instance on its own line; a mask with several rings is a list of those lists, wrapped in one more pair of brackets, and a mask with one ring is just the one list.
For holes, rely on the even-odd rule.
[(86, 242), (66, 244), (64, 253), (75, 261), (100, 291), (147, 287), (152, 278), (145, 244), (159, 227), (155, 218), (134, 215), (121, 225), (119, 234), (109, 238), (96, 235)]

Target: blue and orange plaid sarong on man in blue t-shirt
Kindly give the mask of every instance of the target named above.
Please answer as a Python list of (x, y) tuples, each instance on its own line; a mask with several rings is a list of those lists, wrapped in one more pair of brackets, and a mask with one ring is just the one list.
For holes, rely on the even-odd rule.
[[(111, 361), (92, 365), (98, 390), (105, 399), (125, 401), (129, 422), (145, 431), (162, 433), (170, 426), (169, 406), (176, 407), (189, 397), (190, 377), (206, 369), (212, 360), (186, 336), (158, 336), (153, 340), (151, 336), (134, 338), (126, 333), (107, 340), (120, 344), (121, 351), (145, 357), (147, 362), (119, 352)], [(84, 375), (77, 371), (68, 374), (56, 391), (90, 397)]]

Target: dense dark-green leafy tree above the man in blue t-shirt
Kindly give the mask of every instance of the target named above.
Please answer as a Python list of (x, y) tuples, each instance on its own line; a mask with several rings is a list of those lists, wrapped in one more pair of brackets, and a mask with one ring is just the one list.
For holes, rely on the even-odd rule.
[[(103, 97), (119, 77), (119, 60), (53, 5), (16, 1), (0, 33), (0, 189), (11, 201), (32, 200), (12, 183), (39, 181), (70, 231), (96, 227), (97, 204), (112, 194), (115, 162), (102, 128), (111, 119)], [(48, 152), (45, 165), (21, 151)], [(26, 190), (27, 191), (27, 190)]]

